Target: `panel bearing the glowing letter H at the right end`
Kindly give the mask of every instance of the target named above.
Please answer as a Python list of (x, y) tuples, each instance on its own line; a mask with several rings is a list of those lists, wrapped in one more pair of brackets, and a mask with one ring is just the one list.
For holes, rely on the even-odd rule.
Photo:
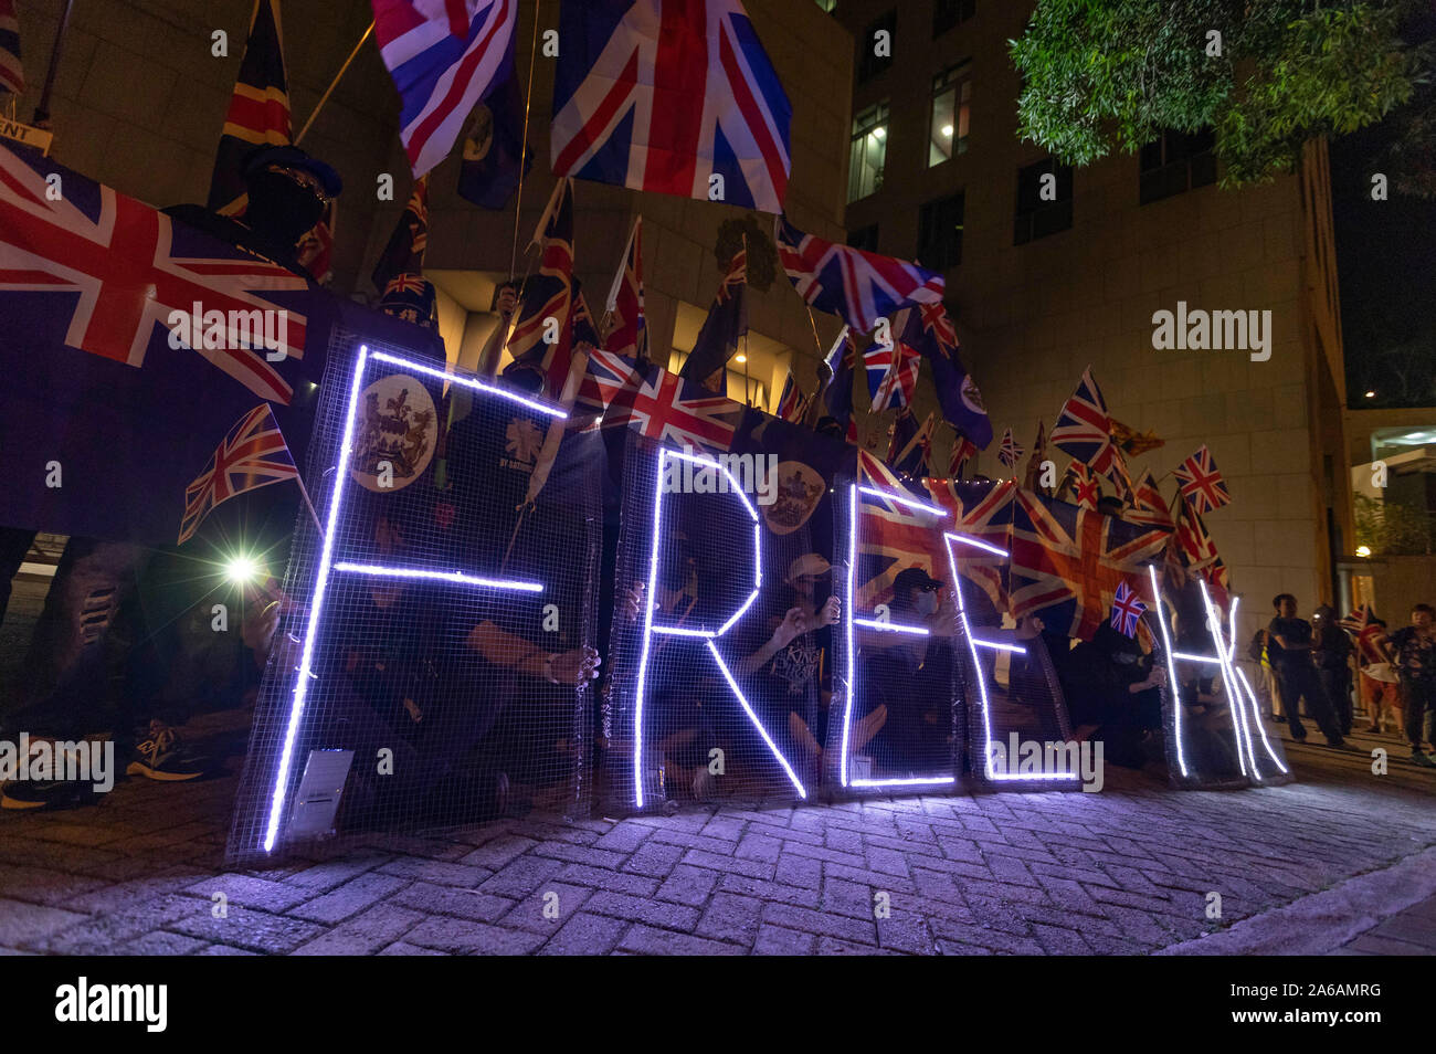
[[(1157, 574), (1153, 569), (1152, 584)], [(1267, 731), (1256, 694), (1236, 665), (1236, 609), (1223, 613), (1206, 583), (1167, 589), (1155, 625), (1167, 671), (1162, 719), (1172, 785), (1199, 790), (1287, 783), (1281, 738)]]

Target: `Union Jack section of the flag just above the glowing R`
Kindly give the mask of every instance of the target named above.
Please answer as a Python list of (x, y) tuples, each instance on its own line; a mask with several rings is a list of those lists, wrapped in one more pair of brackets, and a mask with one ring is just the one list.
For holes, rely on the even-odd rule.
[[(606, 369), (613, 369), (612, 352), (602, 352)], [(595, 355), (597, 359), (599, 355)], [(605, 428), (632, 428), (640, 435), (685, 448), (727, 451), (742, 419), (744, 405), (714, 395), (696, 381), (688, 381), (649, 363), (633, 365), (632, 382), (613, 385), (613, 399), (603, 414)]]

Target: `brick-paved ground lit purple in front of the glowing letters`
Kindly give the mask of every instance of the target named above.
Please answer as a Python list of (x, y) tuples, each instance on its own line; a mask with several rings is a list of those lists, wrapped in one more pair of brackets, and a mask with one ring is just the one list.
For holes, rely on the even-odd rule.
[[(217, 715), (210, 731), (237, 715)], [(205, 731), (204, 727), (200, 729)], [(230, 732), (237, 732), (230, 728)], [(1363, 750), (1373, 744), (1361, 741)], [(1381, 745), (1399, 757), (1394, 740)], [(82, 953), (1149, 952), (1436, 844), (1436, 780), (1291, 747), (1300, 781), (505, 821), (227, 873), (238, 758), (102, 807), (0, 816), (0, 946)], [(1222, 919), (1206, 895), (1222, 895)], [(214, 918), (224, 893), (228, 916)], [(543, 913), (557, 895), (557, 919)], [(890, 918), (875, 919), (875, 895)], [(1404, 908), (1404, 905), (1400, 905)], [(1394, 912), (1396, 909), (1393, 909)], [(1436, 948), (1430, 900), (1347, 952)]]

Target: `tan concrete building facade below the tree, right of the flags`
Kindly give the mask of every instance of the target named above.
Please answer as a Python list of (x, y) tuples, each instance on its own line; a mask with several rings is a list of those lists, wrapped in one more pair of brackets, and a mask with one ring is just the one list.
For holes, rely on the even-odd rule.
[[(945, 271), (998, 435), (1011, 426), (1030, 448), (1091, 366), (1113, 416), (1166, 441), (1134, 468), (1160, 478), (1211, 448), (1234, 500), (1206, 523), (1246, 597), (1244, 635), (1278, 592), (1308, 612), (1338, 600), (1353, 528), (1324, 146), (1308, 148), (1300, 174), (1244, 191), (1213, 185), (1211, 144), (1198, 136), (1076, 172), (1053, 167), (1015, 132), (1021, 79), (1007, 42), (1031, 9), (839, 0), (833, 17), (857, 39), (854, 159), (870, 145), (857, 138), (877, 131), (870, 115), (887, 115), (880, 181), (850, 181), (850, 237)], [(892, 59), (864, 69), (879, 30)], [(954, 82), (966, 90), (946, 95)], [(1057, 201), (1034, 194), (1044, 174)], [(1153, 314), (1179, 302), (1271, 312), (1269, 358), (1157, 350)], [(1060, 472), (1067, 458), (1051, 455)], [(978, 470), (1001, 472), (995, 442)], [(1162, 487), (1175, 491), (1170, 478)]]

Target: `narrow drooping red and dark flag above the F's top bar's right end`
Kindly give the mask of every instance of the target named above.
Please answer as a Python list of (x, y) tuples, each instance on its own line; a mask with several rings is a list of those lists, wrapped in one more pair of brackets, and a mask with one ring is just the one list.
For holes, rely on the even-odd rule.
[[(524, 283), (518, 320), (508, 335), (516, 362), (540, 366), (551, 395), (563, 391), (573, 358), (573, 184), (560, 179), (538, 220), (534, 241), (541, 246), (538, 271)], [(559, 325), (557, 340), (544, 340), (549, 319)]]

